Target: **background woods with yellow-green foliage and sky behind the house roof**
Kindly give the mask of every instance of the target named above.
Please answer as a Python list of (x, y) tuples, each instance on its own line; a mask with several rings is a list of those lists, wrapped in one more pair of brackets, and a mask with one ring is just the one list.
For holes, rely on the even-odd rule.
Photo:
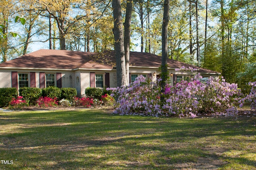
[[(121, 1), (123, 22), (126, 4)], [(162, 55), (163, 6), (164, 0), (132, 1), (131, 51)], [(168, 57), (221, 72), (246, 91), (256, 81), (255, 9), (255, 0), (170, 0)], [(16, 16), (26, 23), (15, 23)], [(112, 0), (1, 0), (1, 61), (30, 53), (39, 42), (49, 49), (113, 50), (113, 27)]]

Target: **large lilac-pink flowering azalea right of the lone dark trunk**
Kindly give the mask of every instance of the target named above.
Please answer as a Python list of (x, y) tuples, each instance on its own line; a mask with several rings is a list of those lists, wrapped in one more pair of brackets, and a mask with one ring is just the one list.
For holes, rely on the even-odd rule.
[(224, 79), (209, 78), (202, 82), (200, 74), (188, 81), (176, 83), (165, 97), (163, 109), (180, 117), (196, 117), (201, 114), (234, 115), (238, 111), (234, 103), (240, 96), (237, 84), (229, 84)]

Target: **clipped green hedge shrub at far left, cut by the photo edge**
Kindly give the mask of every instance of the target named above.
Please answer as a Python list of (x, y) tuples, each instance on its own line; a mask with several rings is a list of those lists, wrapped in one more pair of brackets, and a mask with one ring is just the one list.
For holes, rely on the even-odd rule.
[(12, 98), (17, 98), (17, 96), (16, 88), (0, 88), (0, 107), (8, 106)]

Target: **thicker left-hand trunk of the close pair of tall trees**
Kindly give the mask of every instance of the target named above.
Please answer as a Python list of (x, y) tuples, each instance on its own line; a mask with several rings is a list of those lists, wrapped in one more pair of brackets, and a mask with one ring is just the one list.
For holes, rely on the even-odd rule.
[(114, 18), (114, 40), (115, 40), (115, 57), (116, 57), (116, 79), (117, 86), (126, 86), (126, 64), (124, 55), (124, 33), (123, 33), (123, 22), (121, 13), (121, 2), (120, 0), (112, 1), (113, 18)]

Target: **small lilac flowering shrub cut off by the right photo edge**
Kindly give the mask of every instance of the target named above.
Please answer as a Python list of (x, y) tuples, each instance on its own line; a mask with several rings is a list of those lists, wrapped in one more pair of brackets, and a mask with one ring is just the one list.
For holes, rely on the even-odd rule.
[(243, 106), (245, 102), (251, 104), (251, 109), (256, 109), (256, 82), (249, 82), (249, 85), (252, 86), (250, 94), (248, 94), (245, 98), (242, 98), (239, 103), (240, 107)]

